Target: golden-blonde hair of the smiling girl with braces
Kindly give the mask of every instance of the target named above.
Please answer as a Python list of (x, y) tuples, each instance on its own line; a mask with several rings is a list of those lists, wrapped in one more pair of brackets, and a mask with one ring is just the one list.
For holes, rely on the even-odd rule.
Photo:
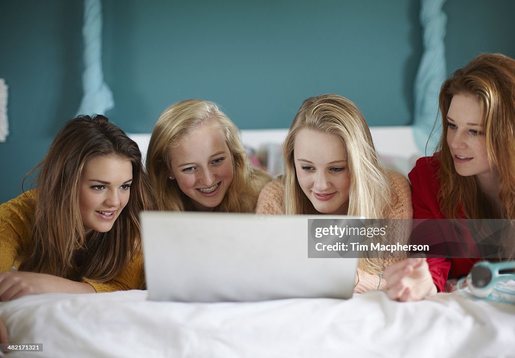
[[(261, 187), (268, 174), (252, 167), (238, 137), (235, 124), (210, 101), (190, 99), (168, 107), (159, 117), (148, 146), (146, 167), (158, 210), (194, 210), (177, 181), (169, 180), (171, 173), (169, 149), (202, 123), (213, 123), (226, 138), (232, 156), (234, 176), (222, 202), (214, 208), (224, 212), (253, 212)], [(254, 198), (255, 200), (242, 200)]]

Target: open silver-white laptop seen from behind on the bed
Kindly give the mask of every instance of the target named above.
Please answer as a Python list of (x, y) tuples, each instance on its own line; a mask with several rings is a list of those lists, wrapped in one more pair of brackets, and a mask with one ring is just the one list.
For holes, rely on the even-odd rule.
[(357, 258), (308, 258), (308, 219), (321, 218), (351, 217), (144, 211), (148, 299), (350, 298)]

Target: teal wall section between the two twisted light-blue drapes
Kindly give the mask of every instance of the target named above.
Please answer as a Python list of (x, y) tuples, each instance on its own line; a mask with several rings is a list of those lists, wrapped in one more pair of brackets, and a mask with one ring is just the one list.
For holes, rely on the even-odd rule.
[(131, 118), (128, 131), (151, 131), (168, 105), (188, 98), (216, 101), (242, 129), (284, 128), (305, 98), (331, 92), (371, 124), (411, 121), (416, 1), (104, 4), (111, 114)]

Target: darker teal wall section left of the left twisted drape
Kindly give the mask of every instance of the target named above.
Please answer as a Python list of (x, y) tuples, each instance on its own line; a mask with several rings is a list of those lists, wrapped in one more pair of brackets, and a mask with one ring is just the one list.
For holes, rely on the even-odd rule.
[(0, 0), (0, 78), (9, 86), (10, 132), (0, 143), (0, 202), (22, 192), (25, 174), (77, 111), (81, 23), (81, 2)]

